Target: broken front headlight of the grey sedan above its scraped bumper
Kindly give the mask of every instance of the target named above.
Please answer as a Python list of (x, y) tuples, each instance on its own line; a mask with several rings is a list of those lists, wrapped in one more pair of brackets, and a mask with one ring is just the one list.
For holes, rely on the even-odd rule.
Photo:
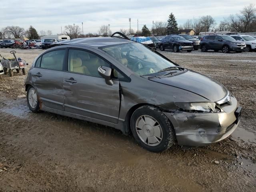
[(194, 103), (182, 103), (176, 102), (175, 105), (182, 111), (185, 112), (219, 112), (220, 110), (216, 107), (215, 103), (207, 103), (207, 102), (194, 102)]

